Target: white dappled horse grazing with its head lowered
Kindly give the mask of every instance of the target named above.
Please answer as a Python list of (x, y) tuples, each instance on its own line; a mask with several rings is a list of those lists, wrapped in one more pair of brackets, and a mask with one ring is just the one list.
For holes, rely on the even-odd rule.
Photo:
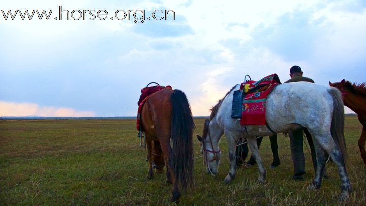
[[(205, 154), (207, 170), (211, 174), (218, 172), (220, 163), (219, 140), (225, 133), (230, 168), (224, 182), (229, 183), (235, 178), (235, 146), (238, 138), (246, 138), (259, 168), (259, 182), (265, 182), (266, 171), (256, 142), (256, 136), (273, 134), (266, 125), (240, 125), (240, 121), (231, 118), (233, 92), (240, 88), (234, 86), (225, 97), (212, 108), (210, 119), (206, 120), (203, 136), (198, 140), (202, 143), (201, 152)], [(344, 140), (344, 108), (340, 92), (308, 82), (280, 84), (273, 89), (266, 100), (265, 119), (268, 126), (276, 133), (288, 132), (293, 129), (307, 128), (311, 133), (317, 158), (317, 168), (309, 189), (320, 188), (324, 175), (326, 151), (335, 164), (341, 179), (340, 199), (347, 199), (351, 192), (345, 157)]]

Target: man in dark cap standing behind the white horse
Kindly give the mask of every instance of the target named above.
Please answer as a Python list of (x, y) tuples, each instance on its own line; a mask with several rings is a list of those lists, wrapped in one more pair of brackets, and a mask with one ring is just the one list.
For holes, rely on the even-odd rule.
[[(314, 83), (314, 81), (312, 79), (303, 77), (302, 74), (303, 74), (303, 72), (301, 70), (301, 67), (296, 66), (296, 65), (291, 67), (291, 69), (290, 69), (291, 79), (289, 79), (285, 83), (298, 82), (298, 81), (307, 81), (307, 82)], [(315, 148), (314, 148), (313, 140), (312, 140), (312, 137), (311, 137), (311, 134), (309, 133), (309, 131), (306, 128), (300, 128), (297, 130), (289, 131), (291, 156), (292, 156), (292, 161), (294, 164), (294, 175), (292, 178), (294, 180), (303, 180), (302, 175), (305, 174), (305, 156), (303, 153), (302, 132), (305, 133), (305, 136), (306, 136), (309, 146), (310, 146), (314, 171), (316, 170), (316, 166), (317, 166)]]

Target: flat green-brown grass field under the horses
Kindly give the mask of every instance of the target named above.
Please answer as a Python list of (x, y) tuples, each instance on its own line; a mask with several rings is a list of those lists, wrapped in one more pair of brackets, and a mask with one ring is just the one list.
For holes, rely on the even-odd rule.
[[(195, 119), (202, 133), (203, 119)], [(366, 204), (366, 167), (357, 140), (361, 125), (356, 116), (346, 116), (347, 171), (353, 187), (348, 204)], [(165, 173), (146, 180), (146, 151), (139, 147), (134, 119), (64, 119), (0, 121), (0, 205), (15, 204), (172, 204), (171, 185)], [(195, 186), (182, 195), (184, 205), (339, 204), (341, 191), (337, 168), (327, 163), (329, 180), (316, 191), (306, 188), (314, 175), (310, 153), (304, 148), (305, 181), (291, 179), (293, 172), (289, 139), (279, 134), (281, 165), (267, 169), (267, 183), (256, 182), (256, 167), (237, 169), (230, 184), (223, 180), (229, 158), (223, 152), (219, 173), (208, 175), (195, 144)], [(225, 150), (223, 136), (220, 148)], [(260, 154), (266, 168), (272, 161), (269, 139), (263, 139)]]

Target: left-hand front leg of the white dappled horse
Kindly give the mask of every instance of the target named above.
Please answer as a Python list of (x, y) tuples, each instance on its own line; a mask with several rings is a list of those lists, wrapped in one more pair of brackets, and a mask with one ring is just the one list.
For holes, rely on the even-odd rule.
[(235, 179), (236, 175), (236, 138), (234, 134), (225, 133), (226, 140), (228, 142), (228, 149), (229, 149), (229, 173), (224, 179), (224, 183), (230, 183), (232, 180)]

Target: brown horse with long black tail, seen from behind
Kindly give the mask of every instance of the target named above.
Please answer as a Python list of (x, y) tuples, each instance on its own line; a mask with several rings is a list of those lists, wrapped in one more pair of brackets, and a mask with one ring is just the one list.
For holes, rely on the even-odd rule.
[(153, 148), (157, 155), (161, 149), (167, 167), (167, 182), (173, 184), (171, 201), (176, 201), (180, 197), (179, 185), (184, 191), (193, 185), (192, 133), (195, 125), (186, 95), (169, 87), (155, 92), (146, 99), (141, 123), (148, 150), (147, 179), (153, 178), (153, 157), (158, 158), (153, 156)]

